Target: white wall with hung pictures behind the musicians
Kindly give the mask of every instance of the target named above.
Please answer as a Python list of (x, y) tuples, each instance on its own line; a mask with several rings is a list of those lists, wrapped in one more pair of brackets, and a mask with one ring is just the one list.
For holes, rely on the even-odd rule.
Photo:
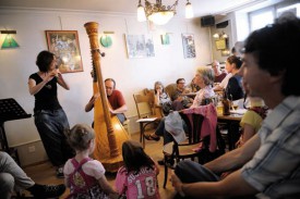
[[(173, 18), (165, 26), (149, 28), (147, 23), (139, 23), (135, 15), (107, 15), (74, 11), (8, 10), (0, 8), (0, 29), (17, 32), (17, 49), (0, 50), (0, 99), (14, 98), (27, 113), (33, 113), (34, 97), (28, 94), (27, 79), (37, 72), (36, 55), (47, 49), (45, 30), (77, 30), (84, 72), (63, 74), (71, 90), (59, 88), (59, 101), (67, 112), (70, 125), (93, 121), (93, 112), (85, 113), (84, 105), (92, 96), (89, 41), (85, 33), (86, 22), (99, 23), (99, 33), (112, 30), (112, 47), (101, 48), (106, 57), (101, 59), (104, 78), (113, 77), (129, 107), (128, 117), (136, 116), (132, 95), (143, 88), (152, 88), (155, 80), (173, 83), (179, 77), (190, 82), (195, 69), (209, 63), (211, 45), (208, 28), (200, 26), (200, 20)], [(154, 29), (154, 30), (149, 30)], [(171, 33), (171, 45), (163, 46), (161, 33)], [(184, 59), (182, 33), (194, 34), (196, 58)], [(128, 59), (124, 34), (152, 34), (155, 58)], [(3, 35), (0, 35), (3, 40)], [(0, 40), (1, 41), (1, 40)], [(39, 140), (34, 117), (5, 122), (10, 146), (20, 146)]]

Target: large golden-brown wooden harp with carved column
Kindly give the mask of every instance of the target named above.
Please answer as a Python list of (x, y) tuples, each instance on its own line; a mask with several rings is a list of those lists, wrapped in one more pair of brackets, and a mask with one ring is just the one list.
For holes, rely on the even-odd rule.
[(99, 160), (108, 172), (117, 172), (123, 164), (122, 144), (129, 139), (128, 133), (116, 115), (109, 112), (104, 79), (100, 67), (100, 50), (98, 43), (98, 23), (84, 24), (89, 38), (92, 61), (94, 67), (94, 95), (99, 98), (94, 104), (94, 129), (96, 147), (94, 158)]

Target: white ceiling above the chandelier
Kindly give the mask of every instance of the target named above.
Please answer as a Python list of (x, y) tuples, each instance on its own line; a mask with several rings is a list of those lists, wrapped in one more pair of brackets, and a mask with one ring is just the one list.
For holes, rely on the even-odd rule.
[[(155, 2), (155, 0), (149, 1)], [(263, 1), (267, 0), (190, 0), (195, 16), (226, 14)], [(137, 2), (139, 0), (0, 0), (0, 7), (135, 14)], [(163, 4), (166, 5), (171, 5), (173, 2), (175, 0), (163, 0)], [(180, 17), (184, 16), (185, 3), (187, 0), (178, 2), (177, 15)], [(144, 0), (142, 4), (144, 5)]]

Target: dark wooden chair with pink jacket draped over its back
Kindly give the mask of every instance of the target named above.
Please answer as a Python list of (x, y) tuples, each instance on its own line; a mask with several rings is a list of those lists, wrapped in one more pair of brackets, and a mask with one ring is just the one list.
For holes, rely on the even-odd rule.
[[(191, 159), (194, 161), (194, 159), (197, 158), (199, 163), (204, 164), (225, 153), (225, 141), (223, 140), (218, 128), (216, 128), (217, 150), (215, 152), (209, 151), (211, 136), (201, 138), (201, 128), (204, 121), (204, 116), (202, 114), (193, 113), (191, 115), (192, 123), (187, 114), (180, 113), (180, 115), (187, 124), (188, 130), (185, 134), (188, 138), (181, 144), (178, 144), (173, 139), (172, 142), (164, 146), (164, 188), (166, 188), (167, 185), (168, 169), (175, 169), (175, 165), (172, 165), (173, 162), (177, 164), (184, 159)], [(199, 150), (201, 145), (201, 150)]]

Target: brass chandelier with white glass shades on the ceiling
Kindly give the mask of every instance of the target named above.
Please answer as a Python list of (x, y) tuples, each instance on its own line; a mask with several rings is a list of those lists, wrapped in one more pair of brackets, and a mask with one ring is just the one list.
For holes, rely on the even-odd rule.
[[(156, 0), (156, 3), (151, 3), (145, 0), (145, 8), (142, 5), (141, 0), (137, 5), (137, 21), (145, 22), (146, 20), (153, 22), (156, 25), (167, 24), (176, 14), (176, 7), (178, 0), (172, 5), (164, 5), (161, 0)], [(185, 4), (185, 17), (193, 17), (192, 4), (187, 0)]]

